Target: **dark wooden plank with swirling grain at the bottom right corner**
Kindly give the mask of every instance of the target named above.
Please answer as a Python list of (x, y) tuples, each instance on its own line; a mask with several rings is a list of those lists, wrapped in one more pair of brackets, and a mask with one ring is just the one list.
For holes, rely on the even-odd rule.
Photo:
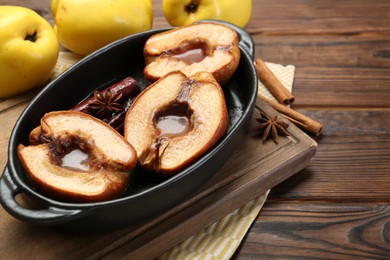
[(389, 259), (385, 203), (269, 202), (235, 259)]

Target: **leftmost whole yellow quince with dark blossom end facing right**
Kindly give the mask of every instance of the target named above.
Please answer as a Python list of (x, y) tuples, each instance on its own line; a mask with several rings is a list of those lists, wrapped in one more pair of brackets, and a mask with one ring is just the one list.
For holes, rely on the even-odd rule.
[(0, 28), (0, 98), (44, 84), (59, 52), (50, 24), (31, 9), (3, 5)]

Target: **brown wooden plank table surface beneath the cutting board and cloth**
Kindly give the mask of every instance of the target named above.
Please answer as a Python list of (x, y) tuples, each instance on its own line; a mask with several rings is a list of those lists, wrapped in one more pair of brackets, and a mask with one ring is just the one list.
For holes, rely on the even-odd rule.
[[(155, 28), (168, 26), (160, 2)], [(49, 0), (0, 4), (53, 21)], [(254, 0), (245, 29), (255, 58), (296, 66), (292, 107), (325, 127), (313, 137), (315, 157), (272, 189), (234, 257), (389, 259), (390, 1)], [(35, 93), (0, 100), (1, 169), (13, 124)]]

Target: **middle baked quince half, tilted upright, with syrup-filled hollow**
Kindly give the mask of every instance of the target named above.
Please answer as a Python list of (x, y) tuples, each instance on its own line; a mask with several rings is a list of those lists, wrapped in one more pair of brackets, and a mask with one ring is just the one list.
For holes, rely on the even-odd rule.
[(226, 133), (224, 93), (214, 76), (170, 72), (129, 108), (124, 136), (141, 167), (171, 176), (208, 151)]

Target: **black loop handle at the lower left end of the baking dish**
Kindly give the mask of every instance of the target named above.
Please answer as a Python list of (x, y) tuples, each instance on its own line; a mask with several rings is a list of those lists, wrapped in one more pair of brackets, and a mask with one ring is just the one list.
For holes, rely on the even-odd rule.
[(68, 222), (83, 214), (83, 210), (79, 209), (48, 207), (36, 210), (24, 208), (16, 201), (16, 195), (20, 192), (22, 189), (13, 181), (8, 166), (6, 166), (0, 179), (0, 202), (12, 216), (29, 223), (52, 225)]

